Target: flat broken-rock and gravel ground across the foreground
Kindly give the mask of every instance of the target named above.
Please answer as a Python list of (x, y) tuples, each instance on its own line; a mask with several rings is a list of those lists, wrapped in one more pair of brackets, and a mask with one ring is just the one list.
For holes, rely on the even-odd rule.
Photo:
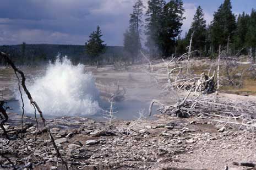
[[(10, 114), (12, 117), (15, 114)], [(18, 117), (18, 116), (16, 116)], [(255, 133), (216, 128), (211, 120), (156, 116), (157, 120), (115, 120), (111, 126), (89, 118), (48, 119), (47, 125), (70, 169), (248, 169), (255, 162)], [(24, 133), (6, 125), (12, 140), (0, 138), (1, 152), (27, 169), (65, 169), (41, 125), (26, 117)], [(31, 123), (34, 122), (34, 123)], [(22, 138), (21, 138), (22, 137)], [(3, 157), (2, 167), (12, 168)], [(252, 168), (250, 168), (252, 169)]]

